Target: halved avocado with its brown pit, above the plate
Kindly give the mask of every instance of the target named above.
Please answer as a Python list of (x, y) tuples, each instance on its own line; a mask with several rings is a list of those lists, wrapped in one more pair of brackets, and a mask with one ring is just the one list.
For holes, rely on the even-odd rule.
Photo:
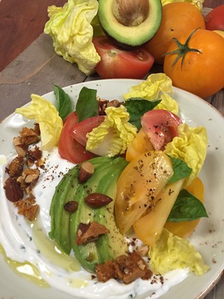
[(138, 48), (155, 35), (162, 20), (160, 0), (99, 0), (106, 35), (123, 48)]

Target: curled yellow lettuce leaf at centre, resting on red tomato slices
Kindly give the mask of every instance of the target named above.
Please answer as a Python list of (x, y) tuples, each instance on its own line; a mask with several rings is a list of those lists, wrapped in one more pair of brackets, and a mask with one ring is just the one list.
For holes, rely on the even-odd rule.
[(87, 133), (87, 151), (113, 157), (125, 153), (137, 134), (137, 127), (128, 122), (125, 106), (107, 107), (104, 122)]

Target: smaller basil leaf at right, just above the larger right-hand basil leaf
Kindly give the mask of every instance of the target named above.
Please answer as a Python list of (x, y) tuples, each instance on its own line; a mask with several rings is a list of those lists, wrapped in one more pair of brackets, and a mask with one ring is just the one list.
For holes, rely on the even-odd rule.
[(168, 157), (172, 160), (172, 165), (174, 168), (174, 174), (172, 178), (169, 179), (168, 183), (174, 183), (175, 181), (179, 181), (183, 178), (188, 178), (190, 176), (192, 169), (188, 167), (186, 162), (179, 158), (174, 158), (168, 155)]

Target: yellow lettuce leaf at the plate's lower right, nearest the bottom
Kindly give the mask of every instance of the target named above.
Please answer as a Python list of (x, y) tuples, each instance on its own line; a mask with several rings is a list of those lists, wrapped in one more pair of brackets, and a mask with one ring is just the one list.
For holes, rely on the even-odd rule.
[(188, 239), (174, 236), (165, 228), (148, 255), (153, 272), (159, 274), (186, 267), (196, 275), (202, 275), (209, 270), (209, 266)]

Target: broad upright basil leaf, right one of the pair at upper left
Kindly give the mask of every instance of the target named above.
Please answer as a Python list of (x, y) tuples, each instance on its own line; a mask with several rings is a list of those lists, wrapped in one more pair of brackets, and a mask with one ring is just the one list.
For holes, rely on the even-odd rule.
[(97, 90), (83, 87), (76, 103), (78, 123), (92, 116), (98, 116)]

